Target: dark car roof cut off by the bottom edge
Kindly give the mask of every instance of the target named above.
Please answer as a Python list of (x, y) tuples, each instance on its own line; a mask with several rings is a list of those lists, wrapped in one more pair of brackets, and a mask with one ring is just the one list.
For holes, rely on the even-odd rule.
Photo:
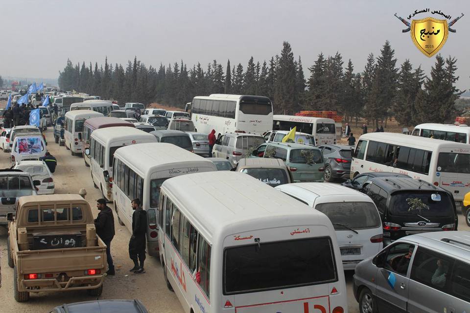
[(148, 313), (142, 302), (135, 300), (95, 300), (63, 304), (49, 313)]

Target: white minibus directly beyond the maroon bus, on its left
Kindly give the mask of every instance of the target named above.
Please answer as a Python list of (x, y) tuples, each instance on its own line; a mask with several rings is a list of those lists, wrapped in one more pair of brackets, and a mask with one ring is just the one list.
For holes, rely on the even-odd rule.
[[(65, 113), (64, 119), (64, 140), (65, 147), (70, 150), (72, 156), (82, 154), (83, 142), (79, 134), (83, 132), (83, 123), (92, 117), (103, 117), (99, 112), (90, 110), (69, 111)], [(80, 135), (81, 136), (81, 135)]]

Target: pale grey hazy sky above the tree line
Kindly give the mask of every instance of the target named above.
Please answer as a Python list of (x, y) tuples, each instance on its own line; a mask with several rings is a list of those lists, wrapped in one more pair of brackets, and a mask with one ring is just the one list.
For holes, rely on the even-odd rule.
[[(452, 19), (466, 14), (441, 54), (458, 59), (457, 86), (469, 89), (468, 0), (0, 0), (0, 75), (56, 78), (67, 58), (99, 65), (107, 56), (124, 65), (135, 55), (154, 67), (181, 59), (188, 67), (197, 62), (206, 67), (216, 59), (225, 68), (230, 59), (246, 68), (250, 56), (268, 61), (288, 41), (308, 77), (307, 67), (320, 52), (339, 51), (345, 66), (351, 58), (354, 71), (362, 71), (367, 55), (377, 55), (385, 40), (398, 64), (408, 58), (428, 73), (435, 59), (415, 47), (393, 16), (406, 18), (424, 8)], [(433, 16), (430, 12), (414, 18)]]

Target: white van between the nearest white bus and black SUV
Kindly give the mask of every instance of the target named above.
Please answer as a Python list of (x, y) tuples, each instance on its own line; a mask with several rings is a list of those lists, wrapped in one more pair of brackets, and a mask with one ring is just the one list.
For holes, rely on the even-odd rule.
[(276, 189), (329, 217), (345, 270), (354, 269), (359, 262), (382, 249), (380, 215), (367, 195), (327, 182), (284, 184)]

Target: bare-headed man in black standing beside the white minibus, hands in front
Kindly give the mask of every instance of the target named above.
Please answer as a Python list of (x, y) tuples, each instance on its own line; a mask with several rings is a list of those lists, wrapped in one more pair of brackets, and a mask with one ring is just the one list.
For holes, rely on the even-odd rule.
[[(147, 212), (142, 210), (140, 199), (131, 202), (134, 213), (132, 214), (132, 236), (129, 240), (129, 257), (134, 262), (130, 269), (134, 273), (145, 273), (143, 261), (145, 261), (145, 244), (147, 236)], [(139, 266), (139, 262), (141, 263)]]

